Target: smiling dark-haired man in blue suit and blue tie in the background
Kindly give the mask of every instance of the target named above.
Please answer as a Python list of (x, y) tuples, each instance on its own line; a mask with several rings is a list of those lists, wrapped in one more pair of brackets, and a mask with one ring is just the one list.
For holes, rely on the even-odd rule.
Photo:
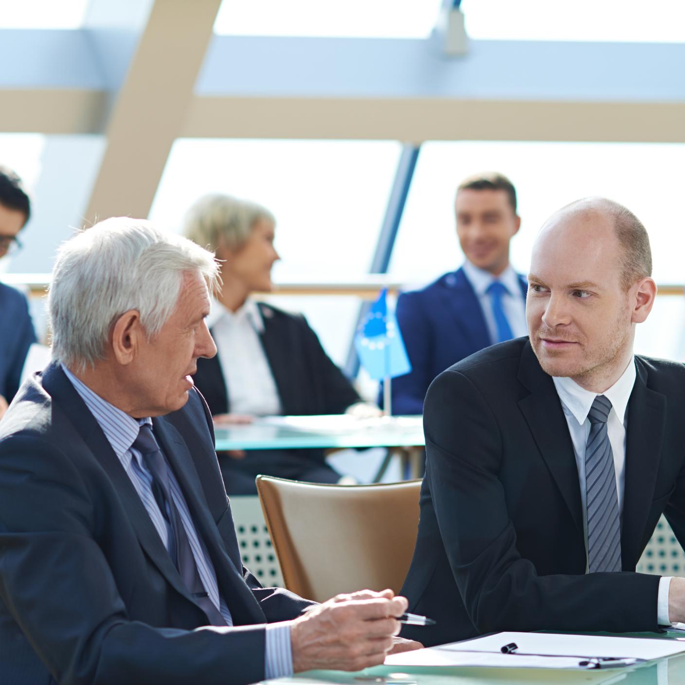
[(509, 263), (509, 243), (521, 226), (514, 186), (499, 173), (468, 177), (457, 189), (455, 212), (466, 261), (397, 301), (412, 371), (393, 380), (394, 414), (423, 413), (428, 386), (448, 366), (527, 335), (527, 285)]

